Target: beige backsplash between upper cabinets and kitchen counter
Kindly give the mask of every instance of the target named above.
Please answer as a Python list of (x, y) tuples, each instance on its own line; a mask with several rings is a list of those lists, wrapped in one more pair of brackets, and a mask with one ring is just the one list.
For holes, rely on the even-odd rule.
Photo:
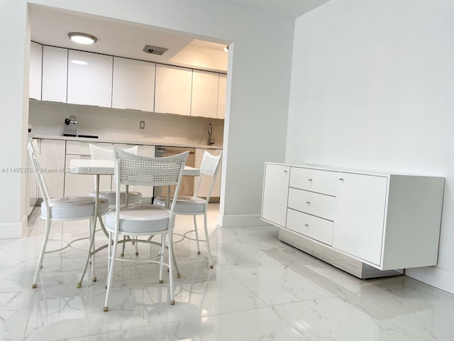
[[(215, 145), (223, 143), (223, 119), (157, 114), (135, 110), (43, 102), (30, 99), (28, 124), (34, 134), (62, 136), (65, 118), (74, 116), (77, 133), (100, 139), (162, 141), (176, 144), (208, 144), (208, 129)], [(145, 121), (145, 129), (140, 129)]]

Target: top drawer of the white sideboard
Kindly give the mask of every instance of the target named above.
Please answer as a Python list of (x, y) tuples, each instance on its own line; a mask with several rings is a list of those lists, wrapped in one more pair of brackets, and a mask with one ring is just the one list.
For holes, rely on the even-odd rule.
[(290, 187), (293, 188), (336, 196), (338, 182), (336, 172), (299, 167), (290, 170)]

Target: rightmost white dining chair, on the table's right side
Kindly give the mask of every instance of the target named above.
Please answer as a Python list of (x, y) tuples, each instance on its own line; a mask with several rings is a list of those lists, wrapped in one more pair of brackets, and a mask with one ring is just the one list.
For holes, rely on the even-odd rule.
[[(195, 233), (195, 240), (197, 244), (197, 254), (200, 254), (200, 245), (199, 242), (206, 242), (206, 249), (208, 251), (208, 260), (210, 269), (213, 269), (213, 261), (211, 259), (211, 249), (210, 249), (210, 241), (209, 241), (209, 234), (208, 234), (208, 226), (206, 224), (206, 211), (208, 210), (208, 204), (211, 197), (211, 192), (214, 187), (214, 183), (216, 181), (216, 175), (218, 174), (219, 165), (221, 161), (222, 151), (219, 153), (218, 156), (211, 155), (208, 151), (204, 151), (204, 157), (201, 161), (200, 166), (200, 176), (199, 181), (196, 186), (196, 190), (194, 196), (189, 195), (179, 195), (177, 197), (177, 205), (175, 206), (175, 213), (177, 215), (192, 215), (194, 219), (194, 229), (188, 231), (184, 234), (184, 237), (187, 237), (187, 234), (190, 232)], [(206, 197), (199, 197), (199, 189), (204, 177), (211, 177), (211, 183), (209, 186), (208, 193)], [(155, 205), (165, 206), (166, 205), (166, 197), (155, 197), (153, 203)], [(172, 203), (172, 202), (170, 202)], [(205, 239), (199, 239), (199, 232), (197, 231), (197, 220), (196, 216), (204, 215), (204, 229), (205, 229)], [(190, 239), (190, 238), (189, 238)]]

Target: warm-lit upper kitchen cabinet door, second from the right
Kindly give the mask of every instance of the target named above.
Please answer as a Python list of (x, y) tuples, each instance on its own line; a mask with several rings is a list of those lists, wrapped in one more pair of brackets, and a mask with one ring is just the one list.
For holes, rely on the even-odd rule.
[(192, 71), (191, 116), (216, 119), (218, 112), (218, 87), (218, 73)]

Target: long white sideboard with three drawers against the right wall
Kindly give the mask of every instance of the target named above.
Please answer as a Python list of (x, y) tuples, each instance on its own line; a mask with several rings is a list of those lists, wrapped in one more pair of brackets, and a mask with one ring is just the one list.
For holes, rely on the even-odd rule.
[[(437, 263), (445, 179), (265, 163), (262, 220), (360, 278)], [(377, 271), (375, 271), (377, 269)]]

